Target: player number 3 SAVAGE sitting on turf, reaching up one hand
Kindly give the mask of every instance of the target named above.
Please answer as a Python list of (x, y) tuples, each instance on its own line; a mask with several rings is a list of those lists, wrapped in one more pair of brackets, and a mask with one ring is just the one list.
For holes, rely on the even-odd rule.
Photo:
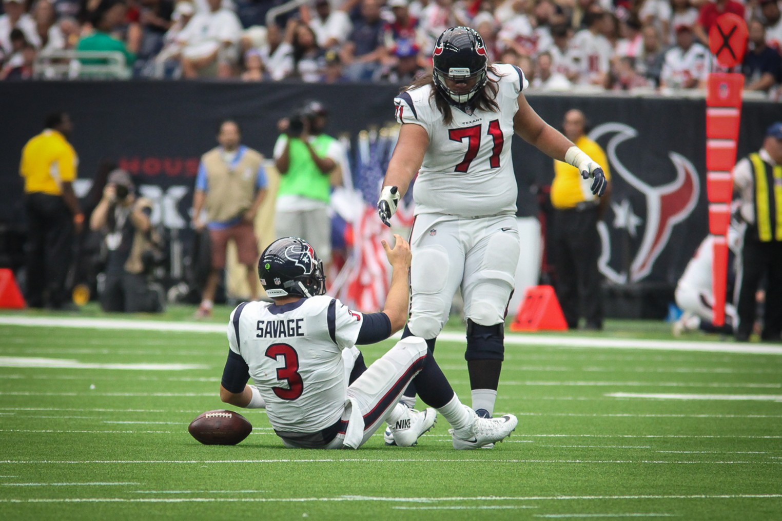
[[(511, 434), (515, 416), (479, 418), (461, 405), (423, 339), (405, 338), (369, 367), (355, 350), (386, 340), (407, 319), (410, 245), (395, 237), (393, 249), (382, 243), (393, 267), (386, 308), (370, 314), (324, 295), (323, 263), (309, 243), (298, 237), (271, 243), (258, 273), (274, 303), (243, 302), (231, 313), (221, 399), (265, 408), (274, 432), (292, 448), (359, 448), (386, 421), (395, 444), (409, 447), (432, 428), (434, 409), (453, 427), (457, 449)], [(350, 376), (344, 350), (357, 355)], [(411, 381), (434, 409), (417, 412), (399, 403)]]

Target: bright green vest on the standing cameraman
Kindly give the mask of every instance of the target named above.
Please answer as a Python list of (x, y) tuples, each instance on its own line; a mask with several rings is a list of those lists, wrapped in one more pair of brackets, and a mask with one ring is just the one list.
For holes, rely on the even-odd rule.
[[(288, 172), (280, 177), (278, 195), (298, 195), (328, 203), (331, 191), (328, 173), (323, 173), (317, 168), (303, 141), (296, 137), (285, 137), (285, 139), (290, 141), (290, 163)], [(333, 137), (320, 134), (310, 141), (310, 146), (317, 155), (326, 157), (328, 148), (334, 141), (336, 140)]]

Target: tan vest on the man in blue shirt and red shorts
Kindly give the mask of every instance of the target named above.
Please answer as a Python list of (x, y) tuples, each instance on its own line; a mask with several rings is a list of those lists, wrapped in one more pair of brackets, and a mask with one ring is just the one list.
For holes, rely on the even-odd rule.
[(244, 148), (239, 162), (231, 168), (216, 147), (201, 156), (206, 169), (206, 217), (210, 223), (224, 223), (242, 216), (255, 200), (256, 176), (264, 156)]

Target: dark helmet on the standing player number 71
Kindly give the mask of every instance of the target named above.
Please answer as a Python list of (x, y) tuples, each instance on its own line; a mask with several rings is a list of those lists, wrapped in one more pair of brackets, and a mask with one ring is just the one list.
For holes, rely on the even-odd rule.
[[(451, 103), (462, 105), (470, 101), (486, 84), (488, 67), (486, 47), (478, 31), (470, 27), (450, 27), (437, 38), (432, 62), (437, 90)], [(452, 91), (446, 80), (469, 81), (475, 85), (465, 93)]]

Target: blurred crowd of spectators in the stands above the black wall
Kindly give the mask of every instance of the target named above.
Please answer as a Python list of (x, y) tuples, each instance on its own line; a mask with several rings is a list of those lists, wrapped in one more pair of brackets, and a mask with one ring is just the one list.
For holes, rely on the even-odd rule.
[(284, 3), (3, 0), (0, 79), (34, 77), (37, 56), (77, 50), (121, 52), (127, 77), (404, 84), (431, 69), (443, 29), (468, 25), (491, 60), (520, 66), (540, 90), (702, 89), (708, 31), (734, 12), (749, 26), (746, 89), (782, 90), (778, 0), (312, 0), (267, 24)]

